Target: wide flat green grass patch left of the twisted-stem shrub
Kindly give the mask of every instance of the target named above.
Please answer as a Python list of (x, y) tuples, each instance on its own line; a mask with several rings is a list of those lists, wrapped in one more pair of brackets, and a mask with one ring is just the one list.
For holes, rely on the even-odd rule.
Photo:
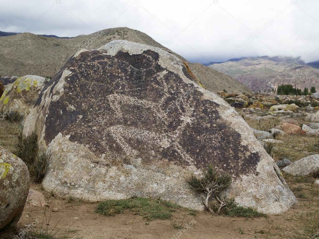
[(160, 199), (130, 198), (106, 200), (100, 203), (95, 211), (110, 216), (130, 210), (133, 214), (142, 216), (150, 221), (154, 219), (169, 219), (176, 208), (180, 208), (180, 206)]

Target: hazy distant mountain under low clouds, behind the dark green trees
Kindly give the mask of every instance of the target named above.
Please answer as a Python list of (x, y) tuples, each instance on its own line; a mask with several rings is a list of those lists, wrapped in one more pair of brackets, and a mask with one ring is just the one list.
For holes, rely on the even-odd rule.
[(210, 68), (234, 77), (253, 91), (277, 88), (281, 84), (294, 84), (300, 89), (315, 86), (319, 89), (319, 64), (305, 64), (292, 57), (243, 57), (222, 63), (212, 63)]

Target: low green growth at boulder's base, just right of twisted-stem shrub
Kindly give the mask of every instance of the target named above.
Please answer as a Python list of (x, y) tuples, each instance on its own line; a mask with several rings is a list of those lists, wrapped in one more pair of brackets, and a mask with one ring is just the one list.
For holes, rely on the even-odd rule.
[(267, 217), (266, 214), (258, 212), (257, 208), (239, 206), (234, 202), (234, 200), (230, 200), (229, 202), (227, 202), (225, 207), (225, 214), (227, 216), (246, 218)]

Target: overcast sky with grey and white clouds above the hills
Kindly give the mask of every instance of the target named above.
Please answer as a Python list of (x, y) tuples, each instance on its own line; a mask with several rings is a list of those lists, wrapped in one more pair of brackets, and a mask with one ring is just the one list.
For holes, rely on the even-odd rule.
[(318, 12), (317, 0), (0, 0), (0, 31), (77, 36), (126, 26), (192, 62), (262, 55), (312, 62)]

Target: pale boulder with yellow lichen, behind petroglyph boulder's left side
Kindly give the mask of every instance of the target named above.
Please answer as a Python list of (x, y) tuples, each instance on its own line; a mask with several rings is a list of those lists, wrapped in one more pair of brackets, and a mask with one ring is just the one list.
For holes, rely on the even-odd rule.
[(3, 117), (11, 112), (28, 115), (47, 82), (46, 78), (30, 75), (19, 77), (8, 85), (0, 98)]

